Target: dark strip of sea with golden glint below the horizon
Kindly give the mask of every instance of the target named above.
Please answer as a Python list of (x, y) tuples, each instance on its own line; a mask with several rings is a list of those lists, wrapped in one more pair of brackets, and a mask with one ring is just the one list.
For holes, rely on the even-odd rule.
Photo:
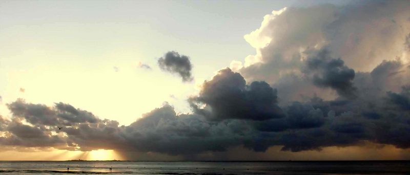
[[(70, 171), (67, 172), (67, 167)], [(110, 168), (112, 167), (112, 172)], [(410, 174), (410, 161), (0, 161), (0, 174)]]

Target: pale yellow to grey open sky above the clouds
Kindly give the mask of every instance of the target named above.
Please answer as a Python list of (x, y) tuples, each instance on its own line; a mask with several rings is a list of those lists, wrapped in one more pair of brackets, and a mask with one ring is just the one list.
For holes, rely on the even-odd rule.
[[(247, 9), (253, 3), (2, 1), (3, 101), (64, 101), (121, 124), (164, 101), (188, 112), (185, 99), (195, 92), (193, 85), (231, 60), (254, 54), (243, 35), (257, 28), (272, 8), (289, 3), (260, 1)], [(226, 6), (232, 8), (227, 11)], [(180, 83), (158, 71), (156, 59), (168, 51), (191, 58), (194, 82)], [(138, 69), (139, 62), (153, 70)], [(7, 108), (2, 110), (7, 114)]]

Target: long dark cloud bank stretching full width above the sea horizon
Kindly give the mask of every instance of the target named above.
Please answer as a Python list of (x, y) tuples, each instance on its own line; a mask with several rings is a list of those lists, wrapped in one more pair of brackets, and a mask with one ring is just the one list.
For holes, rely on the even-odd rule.
[[(405, 69), (408, 74), (408, 68)], [(278, 106), (276, 91), (266, 82), (245, 85), (240, 74), (224, 69), (204, 82), (202, 92), (191, 99), (194, 104), (204, 104), (195, 106), (196, 113), (176, 115), (173, 107), (166, 104), (128, 126), (99, 119), (65, 103), (49, 107), (17, 100), (8, 104), (12, 119), (0, 120), (6, 133), (0, 137), (0, 144), (83, 151), (153, 151), (169, 155), (227, 151), (235, 146), (253, 151), (266, 151), (275, 145), (290, 151), (320, 150), (369, 141), (410, 147), (410, 87), (378, 94), (374, 83), (387, 80), (374, 81), (371, 73), (360, 75), (363, 82), (369, 83), (365, 86), (366, 93), (377, 100), (368, 96), (329, 101), (313, 97), (310, 101)], [(388, 79), (394, 78), (397, 77)], [(64, 128), (59, 130), (57, 126)]]

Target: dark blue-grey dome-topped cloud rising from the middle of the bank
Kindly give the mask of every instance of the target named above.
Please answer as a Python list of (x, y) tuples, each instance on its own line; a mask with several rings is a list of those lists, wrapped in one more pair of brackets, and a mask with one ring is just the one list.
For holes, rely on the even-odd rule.
[[(245, 79), (229, 68), (220, 70), (212, 80), (205, 81), (199, 96), (190, 101), (198, 114), (211, 120), (267, 120), (282, 115), (276, 105), (276, 90), (264, 81), (246, 85)], [(199, 108), (201, 104), (206, 106)]]

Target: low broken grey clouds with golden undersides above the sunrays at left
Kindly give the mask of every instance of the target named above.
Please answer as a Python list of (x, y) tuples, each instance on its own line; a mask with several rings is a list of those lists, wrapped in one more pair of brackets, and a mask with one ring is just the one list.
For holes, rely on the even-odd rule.
[(49, 107), (18, 99), (8, 107), (12, 120), (7, 123), (8, 134), (0, 137), (3, 145), (89, 151), (121, 144), (117, 121), (101, 120), (69, 104), (60, 102)]

